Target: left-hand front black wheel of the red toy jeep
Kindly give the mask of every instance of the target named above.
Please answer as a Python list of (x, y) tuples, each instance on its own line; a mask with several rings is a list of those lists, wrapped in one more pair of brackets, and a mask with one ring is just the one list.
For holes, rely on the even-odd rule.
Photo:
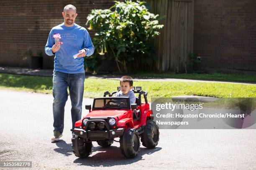
[(84, 139), (75, 135), (72, 138), (73, 153), (79, 158), (86, 158), (92, 153), (92, 142), (86, 143)]

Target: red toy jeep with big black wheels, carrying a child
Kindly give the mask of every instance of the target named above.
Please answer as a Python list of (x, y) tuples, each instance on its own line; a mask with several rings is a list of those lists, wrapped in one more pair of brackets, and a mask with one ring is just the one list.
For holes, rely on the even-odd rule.
[[(147, 92), (141, 87), (136, 87), (136, 90), (133, 87), (133, 92), (138, 93), (136, 104), (130, 104), (129, 97), (112, 97), (116, 92), (110, 94), (107, 91), (104, 97), (94, 98), (92, 107), (85, 105), (89, 114), (75, 123), (75, 136), (72, 138), (73, 153), (77, 157), (90, 155), (92, 141), (97, 141), (102, 147), (109, 147), (113, 141), (119, 142), (121, 153), (127, 158), (138, 155), (140, 138), (146, 148), (156, 147), (159, 128), (153, 121)], [(141, 95), (145, 103), (141, 103)], [(115, 140), (118, 137), (120, 140)]]

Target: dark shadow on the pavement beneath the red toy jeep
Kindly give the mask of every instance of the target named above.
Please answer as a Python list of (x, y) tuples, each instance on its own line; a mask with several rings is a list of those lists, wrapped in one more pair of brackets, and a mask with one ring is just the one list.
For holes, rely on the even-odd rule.
[[(135, 158), (127, 159), (121, 154), (119, 147), (110, 146), (109, 148), (102, 148), (100, 146), (92, 148), (92, 155), (87, 158), (77, 158), (74, 163), (77, 165), (85, 165), (91, 167), (111, 167), (115, 165), (128, 165), (142, 160), (142, 155), (150, 155), (162, 148), (156, 147), (154, 149), (141, 148), (139, 155)], [(99, 152), (93, 155), (94, 152)]]

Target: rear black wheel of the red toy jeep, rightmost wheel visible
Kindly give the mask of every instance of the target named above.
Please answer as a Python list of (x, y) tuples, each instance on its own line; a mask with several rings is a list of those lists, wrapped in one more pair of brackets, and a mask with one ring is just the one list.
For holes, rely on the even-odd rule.
[(147, 120), (144, 132), (141, 134), (141, 143), (146, 148), (155, 148), (159, 141), (159, 128), (152, 120)]

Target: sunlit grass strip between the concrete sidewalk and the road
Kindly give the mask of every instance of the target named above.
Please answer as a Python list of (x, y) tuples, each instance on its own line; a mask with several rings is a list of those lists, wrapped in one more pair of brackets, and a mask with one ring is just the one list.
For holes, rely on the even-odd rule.
[[(102, 97), (105, 91), (116, 91), (118, 80), (87, 78), (84, 82), (84, 97)], [(211, 82), (146, 82), (134, 81), (151, 97), (172, 97), (177, 95), (199, 95), (208, 97), (256, 97), (256, 85), (211, 83)], [(52, 93), (52, 78), (26, 75), (0, 74), (0, 89), (28, 92)]]

